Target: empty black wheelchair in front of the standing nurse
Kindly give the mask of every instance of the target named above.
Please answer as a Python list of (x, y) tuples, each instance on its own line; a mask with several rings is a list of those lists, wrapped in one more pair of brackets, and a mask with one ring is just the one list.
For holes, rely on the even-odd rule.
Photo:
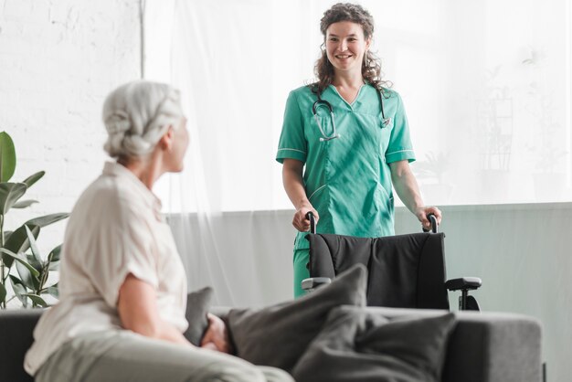
[(367, 305), (395, 308), (450, 309), (448, 291), (461, 291), (459, 309), (480, 311), (469, 295), (482, 285), (477, 277), (446, 280), (444, 238), (438, 232), (437, 218), (429, 215), (431, 229), (407, 235), (356, 238), (316, 233), (310, 212), (310, 278), (302, 289), (311, 292), (355, 263), (368, 271)]

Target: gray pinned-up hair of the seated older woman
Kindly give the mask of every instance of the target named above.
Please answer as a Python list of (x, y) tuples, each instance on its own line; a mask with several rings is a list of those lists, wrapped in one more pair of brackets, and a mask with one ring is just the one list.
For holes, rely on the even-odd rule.
[(146, 80), (126, 83), (103, 103), (103, 123), (109, 134), (103, 149), (112, 158), (145, 157), (168, 126), (176, 129), (182, 118), (178, 90)]

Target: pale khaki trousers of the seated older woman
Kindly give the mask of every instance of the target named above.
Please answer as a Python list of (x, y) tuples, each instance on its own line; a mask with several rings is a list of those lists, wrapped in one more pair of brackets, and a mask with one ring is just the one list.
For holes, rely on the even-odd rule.
[(82, 334), (59, 347), (37, 382), (294, 382), (280, 369), (127, 330)]

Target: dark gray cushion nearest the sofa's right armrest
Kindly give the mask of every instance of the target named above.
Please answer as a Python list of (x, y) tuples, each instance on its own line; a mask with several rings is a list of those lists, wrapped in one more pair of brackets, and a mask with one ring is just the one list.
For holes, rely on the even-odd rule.
[(292, 371), (298, 382), (438, 382), (453, 313), (392, 321), (341, 307)]

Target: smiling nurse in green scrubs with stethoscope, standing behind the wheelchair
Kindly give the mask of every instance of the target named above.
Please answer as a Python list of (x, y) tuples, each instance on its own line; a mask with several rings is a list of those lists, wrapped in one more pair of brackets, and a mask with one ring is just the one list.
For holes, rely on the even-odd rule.
[(319, 233), (394, 235), (393, 186), (424, 227), (430, 227), (429, 214), (441, 219), (439, 208), (423, 204), (409, 168), (415, 154), (401, 97), (381, 80), (369, 51), (373, 17), (360, 5), (336, 4), (323, 14), (320, 29), (318, 81), (291, 91), (276, 155), (296, 208), (296, 297), (309, 277), (308, 212), (320, 220)]

